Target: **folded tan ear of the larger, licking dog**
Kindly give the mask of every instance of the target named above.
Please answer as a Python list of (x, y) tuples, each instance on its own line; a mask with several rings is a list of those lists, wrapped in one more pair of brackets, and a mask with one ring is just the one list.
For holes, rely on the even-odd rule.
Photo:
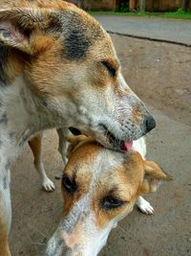
[[(0, 10), (0, 44), (29, 55), (41, 51), (48, 43), (48, 36), (42, 33), (47, 26), (47, 14), (46, 10), (31, 8)], [(34, 39), (36, 35), (38, 38)]]

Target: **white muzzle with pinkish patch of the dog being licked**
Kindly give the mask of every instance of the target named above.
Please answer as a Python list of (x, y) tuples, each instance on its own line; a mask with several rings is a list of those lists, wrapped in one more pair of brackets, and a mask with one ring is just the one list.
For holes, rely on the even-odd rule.
[(88, 210), (85, 198), (77, 201), (59, 222), (47, 244), (46, 256), (96, 256), (106, 243), (110, 229), (96, 228), (95, 215)]

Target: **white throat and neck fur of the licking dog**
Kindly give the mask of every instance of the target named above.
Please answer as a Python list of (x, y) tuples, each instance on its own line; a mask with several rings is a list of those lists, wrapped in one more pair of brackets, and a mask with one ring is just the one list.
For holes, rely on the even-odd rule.
[(0, 156), (11, 163), (35, 132), (64, 127), (64, 122), (32, 93), (22, 75), (9, 83), (0, 68)]

